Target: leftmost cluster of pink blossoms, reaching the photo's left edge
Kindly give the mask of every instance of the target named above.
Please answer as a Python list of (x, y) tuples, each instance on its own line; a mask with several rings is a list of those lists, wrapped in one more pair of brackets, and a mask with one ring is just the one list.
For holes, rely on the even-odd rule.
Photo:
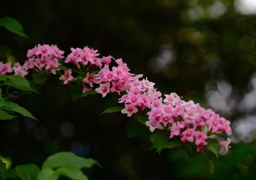
[[(11, 67), (11, 62), (0, 62), (0, 75), (14, 72), (16, 75), (26, 76), (29, 69), (42, 69), (58, 67), (60, 64), (57, 58), (63, 58), (63, 50), (60, 50), (57, 45), (36, 45), (34, 48), (28, 50), (27, 57), (29, 58), (23, 65), (18, 62)], [(56, 69), (51, 69), (53, 74), (56, 74)]]

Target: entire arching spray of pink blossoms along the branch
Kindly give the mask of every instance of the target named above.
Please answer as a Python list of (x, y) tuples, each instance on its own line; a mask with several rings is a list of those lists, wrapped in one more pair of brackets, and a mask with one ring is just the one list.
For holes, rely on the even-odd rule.
[[(95, 91), (102, 94), (102, 97), (116, 92), (121, 95), (118, 102), (124, 103), (121, 113), (131, 117), (137, 112), (144, 112), (148, 115), (145, 124), (151, 132), (156, 129), (169, 130), (169, 138), (180, 137), (182, 143), (195, 143), (197, 151), (205, 148), (206, 139), (212, 134), (232, 134), (230, 122), (214, 111), (205, 110), (192, 100), (186, 102), (176, 93), (164, 94), (163, 99), (161, 92), (154, 88), (155, 83), (147, 78), (140, 80), (142, 74), (130, 73), (122, 59), (114, 59), (112, 56), (99, 58), (97, 52), (87, 46), (83, 49), (71, 48), (71, 53), (65, 60), (65, 63), (73, 63), (79, 70), (87, 70), (81, 81), (83, 92), (91, 90), (95, 84), (99, 85)], [(60, 64), (57, 58), (63, 58), (63, 53), (56, 45), (38, 44), (28, 50), (29, 59), (23, 66), (15, 63), (12, 68), (11, 63), (0, 62), (0, 75), (14, 71), (15, 74), (25, 76), (28, 69), (47, 70), (58, 67)], [(112, 60), (115, 60), (116, 66), (111, 66)], [(100, 68), (97, 74), (88, 72), (93, 66)], [(55, 74), (56, 69), (51, 69), (51, 72)], [(71, 74), (72, 70), (67, 69), (59, 79), (67, 84), (74, 79)], [(230, 142), (230, 138), (227, 138), (220, 145), (227, 150)]]

